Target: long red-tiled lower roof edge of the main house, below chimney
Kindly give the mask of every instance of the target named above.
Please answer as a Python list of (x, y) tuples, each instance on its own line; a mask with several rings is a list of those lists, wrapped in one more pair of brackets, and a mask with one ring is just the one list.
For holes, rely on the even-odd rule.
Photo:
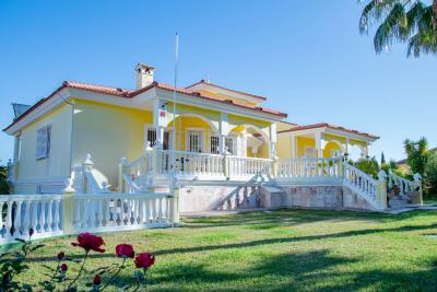
[[(69, 87), (70, 89), (79, 89), (79, 90), (95, 92), (95, 93), (108, 94), (108, 95), (113, 95), (113, 96), (117, 96), (117, 97), (121, 97), (121, 98), (133, 98), (137, 95), (139, 95), (140, 93), (146, 92), (146, 91), (152, 90), (154, 87), (158, 87), (158, 89), (167, 90), (167, 91), (175, 91), (174, 86), (167, 85), (167, 84), (164, 84), (164, 83), (158, 83), (156, 81), (153, 82), (151, 85), (142, 87), (142, 89), (139, 89), (139, 90), (127, 90), (127, 89), (121, 89), (121, 87), (104, 86), (104, 85), (96, 85), (96, 84), (90, 84), (90, 83), (83, 83), (83, 82), (64, 81), (64, 82), (62, 82), (62, 85), (59, 86), (57, 90), (55, 90), (50, 95), (48, 95), (47, 97), (42, 98), (36, 104), (31, 106), (27, 110), (25, 110), (20, 116), (14, 118), (13, 122), (11, 125), (9, 125), (8, 127), (5, 127), (3, 129), (3, 131), (8, 131), (8, 129), (10, 129), (19, 120), (21, 120), (26, 115), (31, 114), (36, 108), (38, 108), (40, 105), (43, 105), (44, 103), (49, 101), (51, 97), (54, 97), (61, 90), (69, 89)], [(244, 108), (247, 108), (247, 109), (250, 109), (250, 110), (265, 113), (265, 114), (279, 116), (281, 118), (287, 117), (287, 114), (281, 113), (281, 112), (275, 110), (275, 109), (270, 109), (270, 108), (265, 108), (265, 107), (260, 107), (260, 106), (249, 105), (249, 104), (245, 104), (245, 103), (239, 103), (239, 102), (236, 102), (236, 101), (233, 101), (233, 100), (218, 97), (218, 96), (215, 96), (215, 95), (212, 95), (212, 94), (210, 95), (210, 94), (206, 94), (206, 93), (199, 93), (199, 92), (196, 92), (196, 91), (191, 91), (189, 89), (176, 89), (176, 92), (182, 93), (182, 94), (188, 94), (188, 95), (191, 95), (191, 96), (194, 96), (194, 97), (199, 97), (199, 98), (203, 98), (203, 100), (209, 100), (209, 101), (213, 101), (213, 102), (234, 105), (234, 106), (237, 106), (237, 107), (244, 107)]]

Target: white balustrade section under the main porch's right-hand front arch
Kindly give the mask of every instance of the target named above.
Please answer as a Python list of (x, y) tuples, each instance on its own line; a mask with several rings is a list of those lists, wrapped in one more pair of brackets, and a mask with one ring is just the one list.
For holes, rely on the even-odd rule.
[(228, 177), (271, 175), (272, 160), (226, 156), (225, 165)]

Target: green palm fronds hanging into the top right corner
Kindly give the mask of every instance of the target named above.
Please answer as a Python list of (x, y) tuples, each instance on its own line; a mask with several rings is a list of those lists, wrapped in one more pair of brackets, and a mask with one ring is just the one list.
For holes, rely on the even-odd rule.
[(437, 0), (433, 4), (423, 0), (370, 0), (363, 10), (359, 31), (367, 33), (374, 24), (378, 25), (374, 37), (377, 54), (397, 42), (408, 44), (409, 57), (437, 54)]

